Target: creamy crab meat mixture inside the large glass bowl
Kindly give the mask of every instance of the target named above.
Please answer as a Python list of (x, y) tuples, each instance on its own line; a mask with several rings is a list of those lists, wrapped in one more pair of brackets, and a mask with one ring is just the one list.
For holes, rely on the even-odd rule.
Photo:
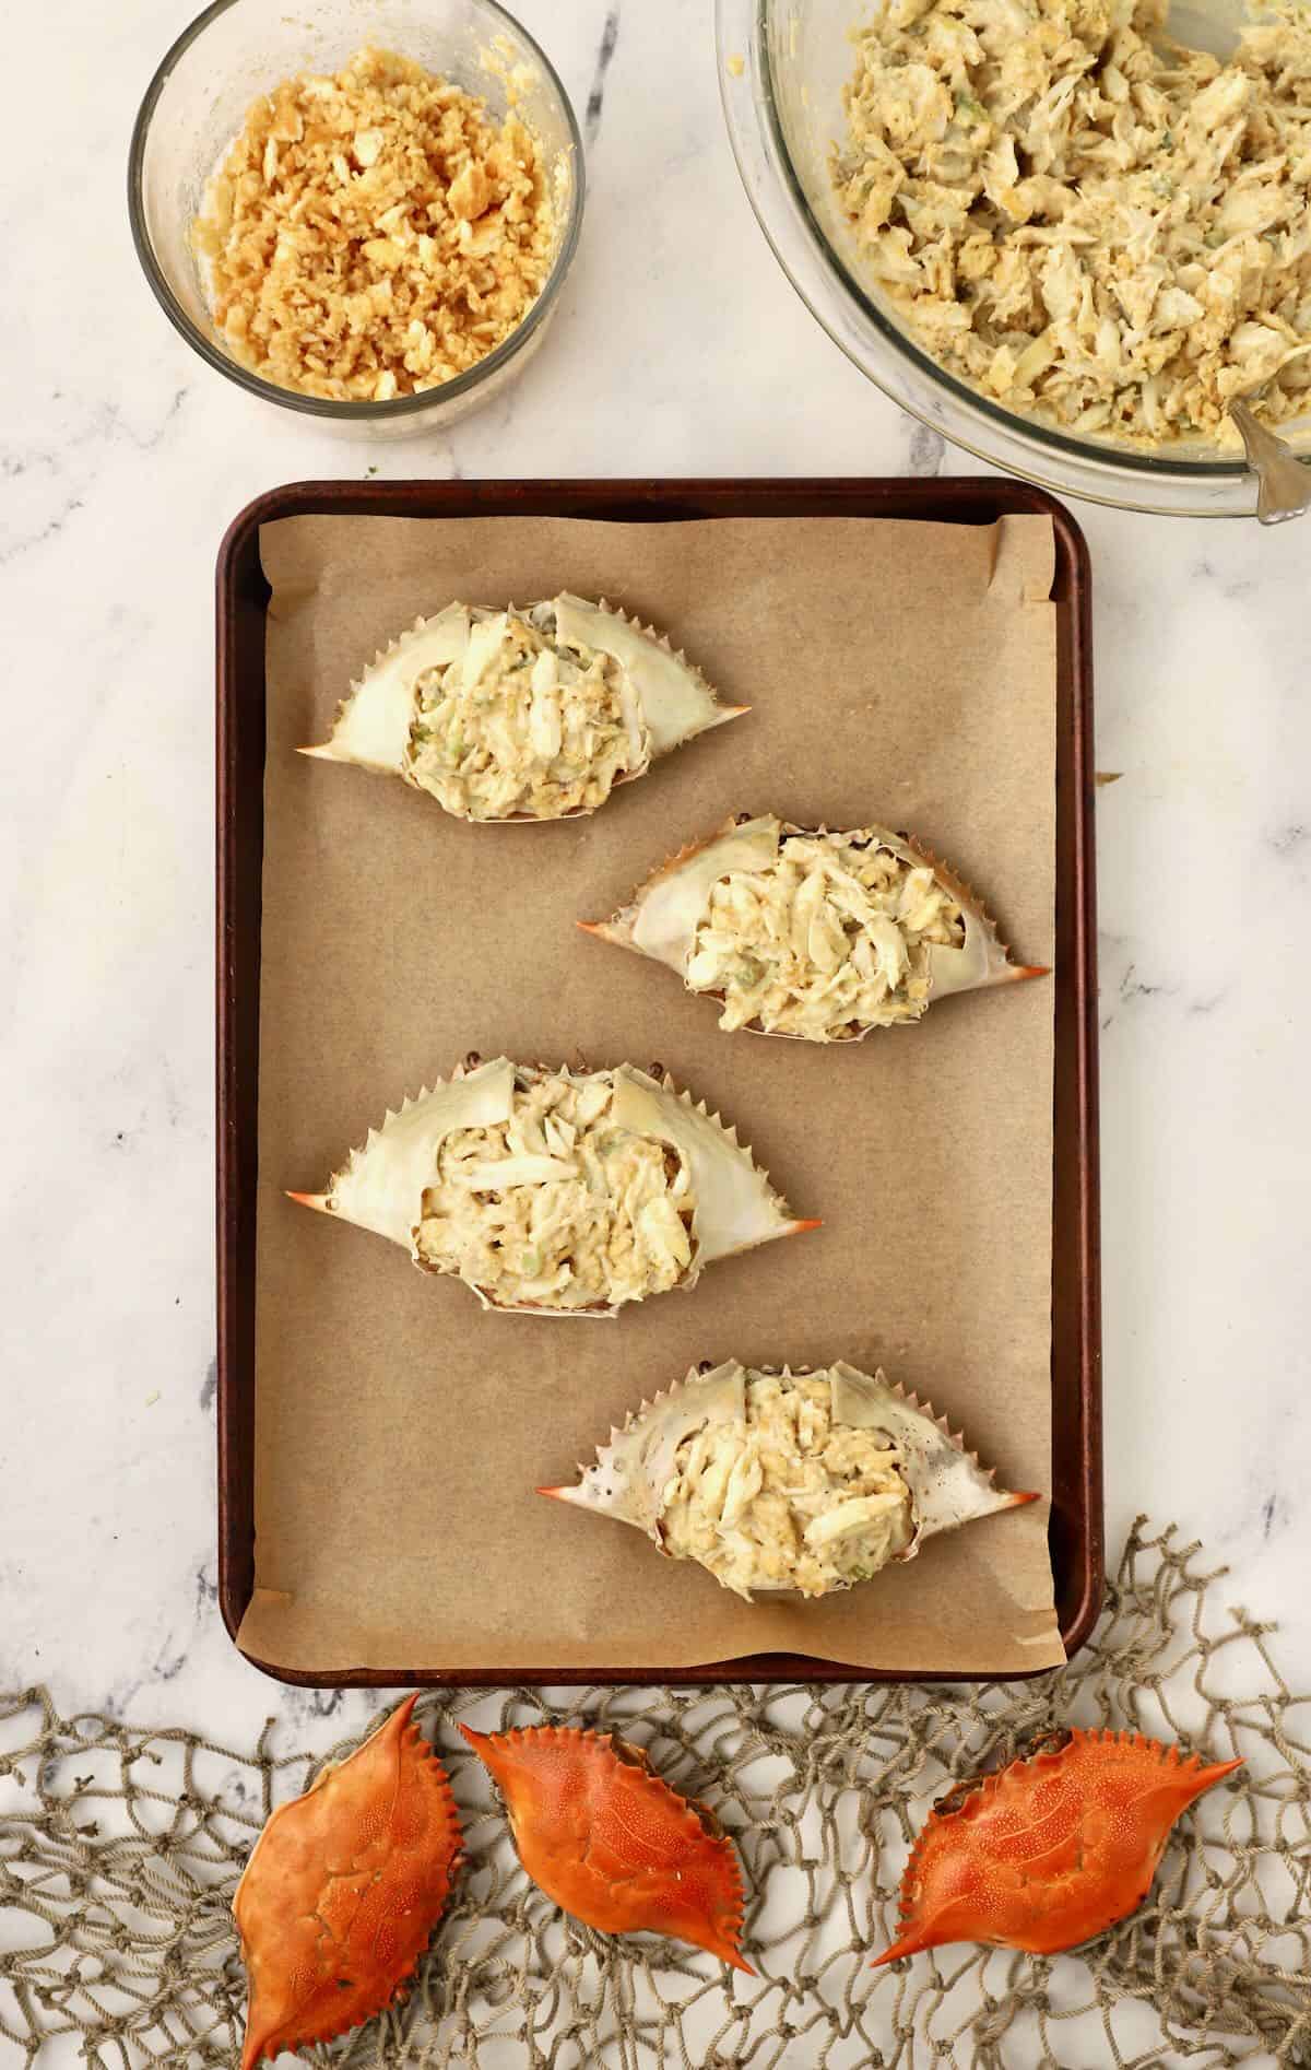
[[(918, 344), (1077, 433), (1239, 445), (1311, 389), (1311, 14), (1222, 64), (1164, 0), (885, 0), (833, 178)], [(1261, 391), (1259, 395), (1255, 391)]]

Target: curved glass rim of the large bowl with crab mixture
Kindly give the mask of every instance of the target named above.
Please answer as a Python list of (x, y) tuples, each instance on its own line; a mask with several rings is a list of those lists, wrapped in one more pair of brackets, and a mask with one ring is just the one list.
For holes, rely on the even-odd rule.
[[(749, 17), (749, 19), (746, 19)], [(1005, 410), (993, 404), (986, 395), (980, 395), (968, 383), (959, 381), (955, 375), (939, 366), (920, 346), (910, 337), (902, 335), (895, 325), (877, 308), (875, 302), (864, 294), (860, 282), (842, 261), (840, 253), (833, 248), (825, 230), (821, 228), (809, 199), (788, 141), (784, 135), (784, 124), (775, 93), (775, 68), (769, 43), (769, 27), (773, 19), (773, 0), (715, 0), (715, 46), (720, 60), (720, 99), (724, 106), (728, 139), (732, 145), (738, 176), (751, 201), (753, 213), (765, 234), (773, 257), (778, 259), (788, 284), (806, 304), (811, 315), (823, 327), (823, 331), (833, 339), (833, 344), (860, 368), (860, 373), (883, 389), (900, 410), (918, 416), (920, 422), (928, 424), (939, 435), (945, 435), (951, 445), (974, 453), (976, 460), (984, 460), (988, 466), (1001, 466), (1009, 474), (1028, 476), (1030, 480), (1044, 482), (1061, 495), (1077, 495), (1088, 501), (1108, 503), (1119, 509), (1141, 509), (1158, 511), (1162, 515), (1197, 515), (1197, 518), (1241, 518), (1251, 515), (1255, 509), (1255, 478), (1247, 464), (1237, 460), (1185, 460), (1183, 455), (1156, 457), (1152, 453), (1135, 451), (1127, 445), (1094, 443), (1092, 439), (1079, 441), (1065, 433), (1042, 424), (1036, 418), (1024, 416), (1013, 410)], [(730, 56), (734, 50), (742, 50), (742, 33), (746, 35), (746, 48), (753, 50), (755, 60), (755, 85), (757, 91), (751, 93), (751, 118), (755, 120), (755, 143), (759, 155), (767, 170), (775, 176), (780, 184), (780, 203), (788, 215), (796, 221), (811, 259), (817, 263), (821, 277), (831, 284), (837, 294), (854, 308), (854, 313), (868, 323), (875, 331), (875, 342), (885, 348), (889, 356), (906, 368), (908, 377), (914, 379), (928, 393), (937, 393), (943, 404), (949, 404), (955, 414), (955, 422), (949, 426), (935, 414), (931, 414), (928, 404), (920, 402), (914, 393), (906, 395), (900, 387), (889, 387), (883, 375), (871, 364), (868, 354), (860, 354), (835, 325), (835, 319), (821, 306), (819, 294), (798, 277), (798, 269), (792, 265), (790, 257), (782, 248), (782, 226), (775, 232), (775, 221), (769, 215), (767, 197), (757, 190), (755, 180), (755, 157), (749, 122), (742, 108), (736, 106), (736, 95), (732, 91), (730, 79)], [(738, 66), (740, 70), (740, 66)], [(751, 153), (751, 159), (744, 155)], [(964, 424), (959, 422), (964, 418)], [(1011, 447), (1019, 447), (1026, 455), (1017, 460)], [(1303, 466), (1311, 464), (1311, 455), (1299, 453)], [(1067, 470), (1077, 470), (1084, 478), (1069, 480)], [(1094, 476), (1088, 480), (1086, 476)], [(1187, 509), (1181, 503), (1137, 503), (1135, 497), (1150, 495), (1156, 486), (1158, 493), (1175, 491), (1177, 495), (1187, 495), (1189, 491), (1201, 493), (1206, 489), (1214, 491), (1234, 491), (1251, 484), (1253, 501), (1245, 505), (1224, 505), (1210, 509)]]

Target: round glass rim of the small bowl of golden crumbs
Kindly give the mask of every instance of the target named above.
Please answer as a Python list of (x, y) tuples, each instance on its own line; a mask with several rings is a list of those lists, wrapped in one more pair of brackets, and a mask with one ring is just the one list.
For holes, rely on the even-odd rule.
[(507, 366), (523, 346), (529, 342), (533, 331), (546, 319), (556, 302), (560, 288), (565, 286), (565, 275), (573, 263), (577, 250), (579, 234), (583, 228), (583, 199), (587, 193), (587, 172), (583, 153), (583, 132), (579, 130), (579, 118), (573, 112), (573, 101), (565, 91), (565, 83), (556, 72), (554, 64), (538, 43), (533, 35), (523, 27), (509, 8), (500, 6), (500, 0), (478, 0), (490, 14), (496, 14), (515, 37), (523, 41), (531, 54), (533, 64), (542, 66), (542, 75), (548, 87), (554, 91), (560, 108), (565, 110), (565, 124), (569, 128), (569, 149), (573, 155), (573, 178), (569, 190), (569, 219), (560, 236), (552, 269), (542, 286), (542, 292), (533, 300), (527, 315), (515, 325), (509, 337), (505, 337), (494, 352), (478, 360), (476, 366), (467, 366), (461, 375), (453, 375), (449, 381), (440, 381), (436, 387), (420, 389), (414, 395), (393, 395), (389, 402), (337, 402), (331, 395), (302, 395), (300, 389), (279, 387), (275, 381), (265, 381), (263, 375), (252, 373), (252, 368), (242, 366), (238, 360), (227, 358), (221, 346), (215, 344), (199, 325), (192, 323), (188, 313), (178, 302), (170, 279), (155, 257), (155, 246), (145, 221), (145, 201), (143, 201), (143, 178), (145, 178), (145, 149), (151, 132), (151, 120), (163, 87), (167, 85), (170, 72), (178, 60), (196, 43), (205, 29), (219, 14), (227, 14), (230, 8), (240, 6), (242, 0), (211, 0), (194, 21), (182, 29), (178, 37), (170, 43), (163, 58), (155, 66), (149, 87), (141, 108), (136, 110), (136, 120), (132, 122), (132, 141), (128, 145), (128, 224), (132, 228), (132, 244), (136, 246), (136, 257), (141, 269), (151, 286), (155, 300), (159, 302), (163, 315), (170, 319), (174, 329), (186, 339), (186, 344), (207, 360), (217, 373), (225, 375), (238, 387), (244, 387), (250, 395), (261, 395), (265, 402), (281, 404), (283, 410), (298, 410), (304, 416), (333, 418), (337, 422), (389, 422), (395, 418), (418, 416), (422, 410), (432, 410), (438, 404), (455, 402), (467, 395), (469, 389), (478, 387), (500, 366)]

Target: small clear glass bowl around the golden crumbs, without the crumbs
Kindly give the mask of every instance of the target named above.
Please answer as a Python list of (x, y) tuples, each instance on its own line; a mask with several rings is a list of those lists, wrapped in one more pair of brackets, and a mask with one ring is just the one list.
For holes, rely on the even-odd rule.
[[(261, 93), (298, 72), (335, 72), (366, 43), (397, 50), (430, 72), (507, 112), (505, 81), (480, 64), (494, 48), (498, 64), (523, 68), (515, 112), (550, 172), (567, 164), (558, 188), (565, 219), (542, 294), (511, 335), (478, 366), (418, 395), (391, 402), (331, 402), (279, 387), (230, 356), (215, 331), (192, 221), (246, 110)], [(496, 0), (314, 0), (306, 14), (271, 0), (215, 0), (184, 29), (151, 79), (128, 155), (128, 213), (145, 277), (182, 337), (248, 395), (321, 424), (364, 437), (447, 428), (490, 402), (527, 364), (546, 333), (573, 261), (583, 221), (583, 141), (550, 60)]]

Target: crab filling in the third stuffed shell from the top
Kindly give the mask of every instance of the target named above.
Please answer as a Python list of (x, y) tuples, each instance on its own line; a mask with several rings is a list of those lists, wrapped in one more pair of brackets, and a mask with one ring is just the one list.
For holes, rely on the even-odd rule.
[(618, 1306), (687, 1279), (687, 1167), (668, 1145), (616, 1128), (612, 1099), (604, 1074), (517, 1081), (509, 1122), (449, 1134), (418, 1263), (459, 1273), (496, 1306)]

